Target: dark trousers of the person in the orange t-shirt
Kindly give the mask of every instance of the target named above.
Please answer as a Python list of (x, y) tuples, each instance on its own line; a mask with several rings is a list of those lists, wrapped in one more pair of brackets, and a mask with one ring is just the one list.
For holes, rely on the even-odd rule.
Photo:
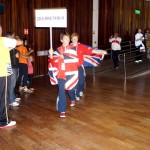
[(19, 86), (27, 86), (28, 66), (27, 64), (19, 64)]

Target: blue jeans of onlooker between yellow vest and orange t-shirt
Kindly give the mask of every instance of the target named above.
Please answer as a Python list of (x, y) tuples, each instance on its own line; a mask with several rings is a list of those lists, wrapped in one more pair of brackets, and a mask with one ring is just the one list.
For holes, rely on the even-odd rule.
[(16, 99), (14, 88), (16, 86), (18, 68), (12, 68), (12, 71), (13, 71), (13, 74), (10, 76), (10, 91), (9, 91), (9, 94), (10, 94), (9, 103), (10, 104), (15, 102), (15, 99)]

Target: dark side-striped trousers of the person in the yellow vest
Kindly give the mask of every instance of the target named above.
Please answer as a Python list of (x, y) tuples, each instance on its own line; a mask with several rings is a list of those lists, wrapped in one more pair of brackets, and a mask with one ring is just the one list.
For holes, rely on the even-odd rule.
[(0, 77), (0, 126), (10, 122), (8, 116), (10, 76)]

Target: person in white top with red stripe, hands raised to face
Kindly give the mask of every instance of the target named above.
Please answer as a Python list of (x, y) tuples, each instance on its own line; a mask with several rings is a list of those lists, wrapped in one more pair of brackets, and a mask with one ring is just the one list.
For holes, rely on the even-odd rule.
[(121, 37), (119, 37), (118, 33), (115, 33), (109, 38), (109, 42), (111, 43), (111, 49), (112, 49), (112, 60), (114, 64), (114, 69), (118, 69), (118, 54), (119, 51), (121, 50)]

